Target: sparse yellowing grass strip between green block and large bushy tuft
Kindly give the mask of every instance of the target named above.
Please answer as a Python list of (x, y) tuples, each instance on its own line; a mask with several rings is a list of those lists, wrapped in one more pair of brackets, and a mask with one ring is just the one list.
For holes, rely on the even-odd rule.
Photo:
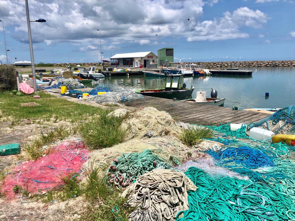
[(73, 124), (71, 126), (60, 124), (55, 127), (55, 129), (47, 129), (44, 132), (41, 130), (39, 136), (24, 146), (23, 150), (25, 152), (25, 158), (28, 160), (36, 160), (43, 154), (50, 153), (50, 148), (44, 151), (41, 147), (45, 144), (54, 143), (58, 140), (63, 140), (72, 134), (76, 134), (77, 128), (77, 124)]

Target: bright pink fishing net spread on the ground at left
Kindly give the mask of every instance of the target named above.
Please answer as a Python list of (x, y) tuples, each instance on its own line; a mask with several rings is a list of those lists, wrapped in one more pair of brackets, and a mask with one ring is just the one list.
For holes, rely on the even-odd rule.
[(31, 193), (60, 187), (64, 184), (61, 178), (75, 177), (81, 172), (81, 166), (88, 160), (88, 154), (89, 151), (82, 141), (65, 141), (55, 146), (53, 153), (16, 166), (5, 177), (1, 193), (8, 198), (14, 197), (13, 187), (16, 185)]

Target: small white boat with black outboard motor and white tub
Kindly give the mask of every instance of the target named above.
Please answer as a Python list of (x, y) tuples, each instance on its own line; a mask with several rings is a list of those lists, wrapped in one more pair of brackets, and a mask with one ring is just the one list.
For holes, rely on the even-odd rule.
[(212, 106), (223, 106), (226, 98), (217, 98), (217, 91), (211, 89), (211, 98), (206, 98), (206, 91), (199, 90), (196, 99), (182, 100), (190, 103), (207, 104)]

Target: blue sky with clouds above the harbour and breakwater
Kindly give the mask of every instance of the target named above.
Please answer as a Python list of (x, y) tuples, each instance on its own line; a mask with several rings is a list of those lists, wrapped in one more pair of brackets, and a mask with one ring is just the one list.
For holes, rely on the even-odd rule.
[[(35, 63), (173, 47), (174, 60), (294, 60), (295, 0), (29, 0)], [(0, 0), (9, 61), (30, 61), (24, 0)], [(188, 20), (189, 19), (189, 20)], [(6, 63), (0, 22), (0, 60)], [(156, 36), (158, 34), (158, 36)], [(17, 58), (17, 59), (15, 59)]]

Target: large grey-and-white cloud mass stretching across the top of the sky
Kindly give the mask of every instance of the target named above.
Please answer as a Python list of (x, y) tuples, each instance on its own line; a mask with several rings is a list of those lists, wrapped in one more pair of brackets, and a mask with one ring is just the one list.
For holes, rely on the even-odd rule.
[[(77, 50), (99, 48), (99, 32), (104, 50), (114, 45), (137, 42), (140, 45), (158, 44), (160, 37), (187, 37), (188, 41), (215, 41), (247, 38), (242, 27), (261, 28), (268, 20), (265, 13), (241, 7), (226, 11), (221, 18), (199, 21), (203, 7), (217, 0), (76, 0), (72, 4), (59, 0), (30, 1), (32, 19), (44, 18), (47, 22), (32, 22), (33, 42), (53, 45), (70, 42)], [(1, 18), (14, 27), (11, 36), (19, 42), (28, 42), (24, 1), (1, 1)], [(42, 9), (42, 10), (41, 10)], [(184, 16), (187, 15), (187, 16)], [(191, 16), (193, 15), (193, 16)], [(190, 17), (190, 21), (187, 18)], [(111, 45), (109, 45), (111, 44)], [(164, 42), (160, 41), (160, 44)], [(109, 46), (107, 46), (109, 45)]]

